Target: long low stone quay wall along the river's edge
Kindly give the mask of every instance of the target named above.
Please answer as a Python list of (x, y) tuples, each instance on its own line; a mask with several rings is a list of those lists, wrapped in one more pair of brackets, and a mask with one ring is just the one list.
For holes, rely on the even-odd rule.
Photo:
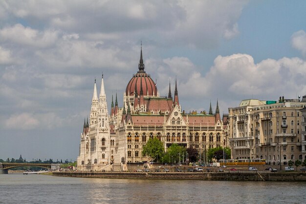
[(101, 179), (159, 179), (207, 181), (306, 181), (300, 172), (52, 172), (52, 176)]

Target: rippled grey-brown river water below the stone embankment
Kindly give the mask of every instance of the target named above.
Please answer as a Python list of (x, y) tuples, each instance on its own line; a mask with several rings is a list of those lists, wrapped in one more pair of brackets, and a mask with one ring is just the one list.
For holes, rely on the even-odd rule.
[(171, 181), (0, 174), (0, 204), (306, 204), (305, 182)]

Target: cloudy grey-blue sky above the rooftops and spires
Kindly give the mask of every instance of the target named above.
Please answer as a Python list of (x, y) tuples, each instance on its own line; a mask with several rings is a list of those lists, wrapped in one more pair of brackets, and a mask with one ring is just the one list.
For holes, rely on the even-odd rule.
[(0, 0), (0, 159), (75, 160), (104, 75), (138, 70), (185, 112), (306, 94), (306, 1)]

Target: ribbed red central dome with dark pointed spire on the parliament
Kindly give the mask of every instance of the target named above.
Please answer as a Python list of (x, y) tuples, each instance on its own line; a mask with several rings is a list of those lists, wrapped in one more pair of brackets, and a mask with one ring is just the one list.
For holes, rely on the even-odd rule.
[[(140, 60), (138, 65), (139, 71), (133, 75), (131, 78), (127, 89), (126, 95), (134, 95), (136, 92), (138, 95), (143, 94), (144, 96), (156, 96), (157, 88), (154, 81), (151, 79), (150, 75), (145, 72), (145, 65), (142, 59), (142, 49), (140, 51)], [(141, 93), (142, 91), (142, 93)]]

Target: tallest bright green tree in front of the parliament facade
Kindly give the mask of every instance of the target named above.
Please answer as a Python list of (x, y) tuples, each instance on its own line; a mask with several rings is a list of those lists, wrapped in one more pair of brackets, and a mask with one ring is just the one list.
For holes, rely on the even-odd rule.
[(158, 162), (164, 155), (164, 145), (157, 137), (150, 138), (147, 144), (143, 147), (142, 156), (149, 156), (153, 161)]

